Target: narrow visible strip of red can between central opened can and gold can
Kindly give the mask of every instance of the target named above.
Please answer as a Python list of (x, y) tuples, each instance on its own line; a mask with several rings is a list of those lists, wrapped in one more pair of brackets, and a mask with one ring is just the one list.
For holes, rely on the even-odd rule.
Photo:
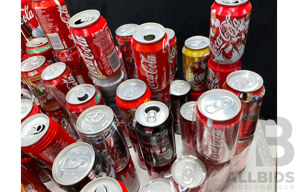
[(170, 40), (170, 82), (178, 79), (177, 38), (173, 29), (164, 28)]

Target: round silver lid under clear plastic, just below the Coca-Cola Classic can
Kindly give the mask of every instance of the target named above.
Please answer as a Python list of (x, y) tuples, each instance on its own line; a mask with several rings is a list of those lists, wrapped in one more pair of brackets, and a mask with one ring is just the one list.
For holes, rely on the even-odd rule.
[(204, 164), (191, 155), (184, 155), (174, 161), (171, 171), (176, 183), (187, 188), (200, 186), (206, 177)]

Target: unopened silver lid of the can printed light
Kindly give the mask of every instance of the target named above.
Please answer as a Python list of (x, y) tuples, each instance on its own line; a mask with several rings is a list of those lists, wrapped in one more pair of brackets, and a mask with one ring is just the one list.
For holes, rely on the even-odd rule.
[(114, 113), (110, 107), (96, 105), (86, 109), (77, 119), (77, 129), (81, 133), (94, 134), (111, 125)]

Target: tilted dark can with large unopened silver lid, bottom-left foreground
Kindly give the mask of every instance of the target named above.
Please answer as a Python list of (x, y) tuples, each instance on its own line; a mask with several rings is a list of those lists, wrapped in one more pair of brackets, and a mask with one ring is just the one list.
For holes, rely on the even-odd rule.
[(98, 177), (116, 179), (114, 169), (100, 152), (84, 142), (65, 147), (56, 157), (52, 173), (59, 186), (69, 192), (81, 191)]

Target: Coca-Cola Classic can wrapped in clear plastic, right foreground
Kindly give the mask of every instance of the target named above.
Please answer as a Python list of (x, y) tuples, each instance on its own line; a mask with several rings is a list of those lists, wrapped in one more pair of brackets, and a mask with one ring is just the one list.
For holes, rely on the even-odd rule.
[(204, 93), (195, 107), (198, 152), (206, 160), (223, 163), (234, 153), (241, 119), (240, 99), (227, 90)]

